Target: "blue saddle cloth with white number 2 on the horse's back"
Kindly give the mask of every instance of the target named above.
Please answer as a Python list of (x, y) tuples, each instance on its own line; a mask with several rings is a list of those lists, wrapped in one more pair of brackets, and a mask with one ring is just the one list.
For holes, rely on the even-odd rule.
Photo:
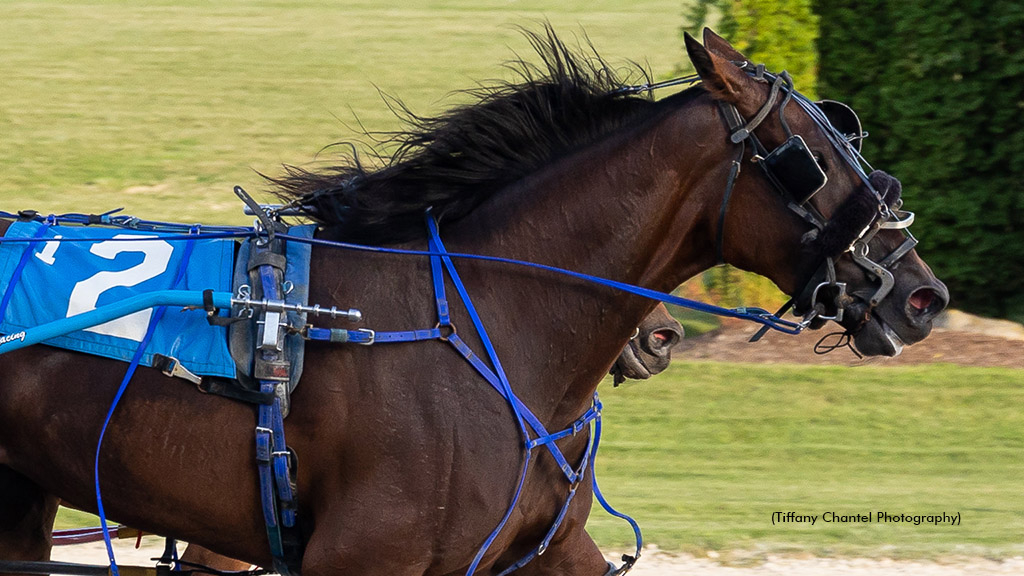
[[(42, 225), (16, 221), (6, 236), (34, 238)], [(90, 240), (46, 242), (56, 237)], [(123, 229), (50, 227), (35, 245), (0, 243), (0, 294), (7, 294), (25, 250), (33, 251), (10, 293), (0, 332), (19, 332), (147, 291), (231, 290), (232, 240), (193, 241), (191, 255), (175, 285), (187, 242), (159, 238), (157, 233)], [(153, 308), (144, 310), (45, 343), (129, 362), (152, 316)], [(202, 310), (169, 307), (157, 325), (142, 365), (152, 365), (154, 354), (176, 358), (197, 374), (236, 375), (226, 330), (210, 326)]]

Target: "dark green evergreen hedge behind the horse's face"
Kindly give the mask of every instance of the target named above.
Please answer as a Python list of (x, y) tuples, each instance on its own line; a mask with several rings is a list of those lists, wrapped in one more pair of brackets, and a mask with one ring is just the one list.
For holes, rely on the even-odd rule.
[(818, 91), (860, 114), (952, 304), (1024, 321), (1024, 3), (816, 0)]

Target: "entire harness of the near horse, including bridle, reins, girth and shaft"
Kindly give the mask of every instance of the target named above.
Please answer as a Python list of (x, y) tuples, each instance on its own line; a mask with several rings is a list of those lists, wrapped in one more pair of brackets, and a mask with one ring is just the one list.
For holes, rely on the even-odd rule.
[[(839, 151), (840, 155), (856, 170), (858, 176), (864, 184), (865, 194), (870, 195), (874, 202), (873, 211), (870, 218), (862, 223), (863, 228), (855, 236), (852, 242), (843, 247), (841, 253), (851, 252), (853, 261), (863, 268), (868, 274), (879, 279), (879, 288), (867, 301), (871, 307), (877, 305), (892, 289), (894, 281), (891, 273), (892, 266), (916, 244), (916, 240), (906, 230), (913, 220), (913, 214), (899, 210), (898, 205), (890, 207), (886, 199), (872, 186), (870, 177), (864, 172), (862, 164), (866, 165), (859, 151), (852, 142), (856, 141), (863, 134), (855, 134), (848, 138), (833, 127), (829, 118), (817, 108), (816, 105), (808, 100), (799, 92), (793, 89), (792, 81), (786, 73), (772, 75), (764, 70), (764, 67), (754, 67), (749, 63), (741, 63), (740, 68), (754, 76), (758, 81), (770, 82), (771, 90), (767, 101), (761, 107), (758, 113), (750, 121), (742, 118), (739, 112), (731, 105), (721, 105), (723, 117), (729, 128), (730, 141), (738, 145), (737, 155), (733, 160), (728, 180), (726, 182), (725, 194), (719, 215), (717, 252), (719, 259), (722, 255), (723, 229), (725, 215), (728, 209), (729, 199), (735, 179), (739, 174), (745, 147), (752, 147), (754, 154), (751, 161), (755, 162), (763, 169), (772, 187), (787, 200), (791, 210), (799, 214), (812, 227), (811, 237), (825, 234), (831, 220), (825, 218), (811, 203), (810, 199), (820, 191), (826, 183), (827, 177), (823, 170), (817, 165), (812, 153), (807, 149), (804, 139), (793, 134), (785, 122), (783, 112), (785, 106), (795, 100), (805, 112), (807, 112), (815, 123), (824, 131), (829, 141)], [(644, 86), (628, 86), (622, 88), (622, 92), (649, 91), (663, 86), (676, 85), (680, 83), (691, 83), (693, 79), (679, 79), (670, 82), (651, 84)], [(767, 118), (780, 94), (782, 101), (779, 106), (779, 119), (787, 139), (773, 151), (767, 151), (759, 138), (755, 135), (756, 128)], [(851, 111), (852, 114), (852, 111)], [(857, 124), (859, 129), (859, 122)], [(869, 168), (869, 165), (868, 165)], [(49, 217), (45, 221), (55, 222), (56, 220), (67, 220), (77, 223), (104, 223), (112, 225), (122, 225), (127, 228), (170, 230), (178, 236), (161, 237), (164, 241), (185, 241), (195, 242), (199, 238), (248, 238), (251, 239), (250, 256), (248, 262), (250, 284), (239, 289), (237, 294), (216, 292), (207, 290), (202, 294), (186, 290), (166, 290), (140, 295), (128, 300), (101, 306), (72, 318), (55, 321), (50, 324), (28, 329), (20, 334), (7, 335), (0, 338), (0, 354), (16, 349), (25, 345), (40, 342), (48, 337), (66, 334), (70, 331), (81, 330), (89, 326), (95, 326), (106, 322), (113, 318), (118, 318), (134, 312), (154, 306), (168, 305), (200, 307), (206, 311), (207, 318), (211, 324), (224, 324), (241, 320), (249, 320), (256, 323), (258, 327), (255, 354), (253, 355), (252, 373), (254, 380), (258, 383), (258, 390), (250, 395), (249, 401), (255, 401), (258, 408), (258, 423), (255, 429), (256, 461), (258, 477), (260, 480), (261, 506), (263, 509), (266, 525), (267, 537), (270, 551), (273, 557), (273, 567), (281, 574), (288, 575), (296, 573), (302, 557), (303, 538), (302, 531), (297, 519), (298, 495), (295, 485), (295, 470), (297, 459), (294, 452), (288, 447), (285, 439), (284, 417), (288, 406), (289, 395), (289, 374), (290, 374), (290, 348), (289, 337), (301, 336), (304, 339), (322, 340), (338, 343), (356, 344), (380, 344), (395, 342), (411, 342), (420, 340), (440, 340), (450, 343), (462, 356), (473, 369), (504, 399), (512, 412), (516, 426), (519, 430), (520, 442), (523, 450), (523, 459), (520, 466), (520, 474), (516, 485), (516, 491), (510, 501), (505, 515), (494, 528), (487, 538), (482, 542), (467, 571), (472, 575), (483, 562), (484, 557), (506, 526), (513, 510), (519, 503), (526, 479), (529, 464), (535, 457), (535, 450), (542, 448), (547, 451), (562, 471), (562, 476), (568, 484), (564, 503), (552, 522), (551, 528), (541, 539), (538, 545), (523, 559), (507, 567), (501, 572), (504, 576), (522, 566), (535, 558), (543, 554), (561, 526), (569, 505), (575, 496), (582, 482), (590, 475), (594, 495), (599, 503), (618, 518), (627, 520), (634, 530), (636, 536), (636, 552), (632, 557), (624, 557), (626, 564), (621, 568), (612, 568), (609, 573), (624, 574), (630, 570), (632, 565), (640, 557), (642, 548), (642, 535), (636, 522), (629, 517), (615, 511), (608, 505), (601, 494), (596, 479), (594, 477), (594, 461), (600, 443), (601, 434), (601, 403), (595, 393), (590, 408), (571, 424), (564, 429), (549, 433), (536, 415), (526, 407), (515, 395), (512, 386), (502, 368), (498, 354), (495, 351), (490, 338), (483, 326), (482, 320), (473, 305), (465, 286), (463, 285), (456, 268), (454, 258), (471, 258), (499, 261), (514, 265), (527, 265), (535, 269), (546, 270), (556, 274), (567, 275), (577, 279), (595, 282), (604, 286), (621, 289), (636, 295), (654, 298), (669, 303), (675, 303), (692, 310), (751, 320), (763, 325), (761, 331), (755, 335), (759, 338), (768, 329), (775, 329), (785, 333), (798, 333), (806, 328), (814, 320), (842, 320), (843, 312), (850, 305), (851, 298), (846, 294), (845, 283), (839, 282), (835, 273), (835, 259), (841, 254), (825, 254), (821, 265), (817, 272), (811, 275), (805, 284), (801, 294), (787, 302), (775, 315), (769, 314), (760, 308), (723, 308), (695, 302), (686, 298), (665, 294), (642, 287), (631, 286), (621, 282), (597, 278), (589, 275), (574, 273), (554, 266), (540, 265), (521, 260), (500, 258), (493, 256), (482, 256), (475, 254), (450, 253), (444, 248), (440, 240), (436, 221), (429, 213), (425, 216), (425, 225), (429, 233), (428, 250), (402, 250), (383, 247), (360, 246), (348, 243), (328, 242), (311, 238), (303, 238), (289, 234), (287, 227), (281, 223), (280, 216), (289, 215), (279, 207), (267, 208), (259, 206), (252, 201), (241, 189), (236, 190), (237, 194), (246, 202), (250, 212), (257, 216), (256, 225), (253, 229), (243, 229), (237, 227), (208, 228), (209, 233), (200, 234), (199, 231), (191, 231), (185, 227), (188, 234), (181, 234), (183, 229), (180, 224), (169, 224), (165, 222), (145, 222), (137, 218), (115, 216), (114, 212), (108, 212), (98, 216), (72, 214), (60, 217)], [(11, 216), (0, 214), (0, 216)], [(29, 214), (29, 218), (43, 220), (36, 214)], [(146, 229), (146, 230), (148, 230)], [(906, 234), (906, 240), (893, 252), (884, 256), (880, 261), (874, 261), (869, 257), (868, 243), (880, 230), (902, 230)], [(9, 241), (2, 239), (0, 241)], [(35, 253), (41, 243), (39, 238), (17, 239), (27, 242), (26, 256)], [(58, 240), (53, 240), (54, 242)], [(81, 239), (79, 241), (82, 241)], [(295, 302), (288, 298), (289, 286), (284, 280), (284, 271), (287, 266), (287, 259), (284, 256), (284, 245), (286, 242), (299, 242), (305, 244), (325, 245), (337, 248), (372, 251), (379, 253), (392, 253), (417, 256), (429, 256), (431, 279), (434, 289), (434, 297), (437, 310), (437, 324), (433, 328), (397, 331), (378, 332), (371, 329), (360, 328), (356, 330), (346, 330), (337, 328), (323, 328), (307, 323), (308, 317), (331, 317), (345, 318), (350, 321), (359, 321), (361, 315), (358, 311), (338, 311), (336, 307), (324, 308), (319, 305), (306, 305)], [(466, 342), (459, 336), (456, 326), (451, 321), (449, 299), (445, 295), (444, 279), (445, 275), (453, 282), (456, 291), (465, 305), (474, 329), (484, 347), (487, 361), (475, 354)], [(808, 312), (804, 314), (800, 323), (785, 321), (779, 315), (788, 310), (795, 301), (800, 302), (807, 299)], [(6, 304), (0, 301), (0, 311)], [(230, 310), (231, 318), (225, 319), (221, 316), (221, 311)], [(153, 315), (150, 330), (159, 322), (162, 312)], [(140, 344), (141, 354), (145, 347), (145, 340)], [(113, 414), (121, 395), (124, 393), (131, 379), (138, 360), (133, 359), (129, 370), (122, 381), (114, 404), (108, 413), (108, 423)], [(170, 363), (165, 366), (165, 373), (169, 375), (180, 375), (180, 367)], [(103, 430), (105, 430), (104, 423)], [(579, 434), (588, 435), (588, 446), (584, 450), (579, 461), (570, 463), (564, 456), (557, 443), (561, 440), (574, 437)], [(102, 434), (100, 435), (102, 442)], [(97, 447), (98, 462), (98, 447)], [(96, 467), (96, 496), (99, 507), (100, 519), (103, 525), (104, 538), (108, 543), (108, 550), (111, 559), (111, 571), (117, 576), (117, 566), (114, 563), (113, 551), (110, 547), (110, 537), (108, 534), (105, 517), (103, 513), (101, 497), (99, 494), (98, 464)]]

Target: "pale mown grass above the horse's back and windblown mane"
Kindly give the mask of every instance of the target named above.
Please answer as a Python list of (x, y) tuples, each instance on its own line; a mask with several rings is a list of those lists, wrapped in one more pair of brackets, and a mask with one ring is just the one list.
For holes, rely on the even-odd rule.
[[(13, 1), (0, 8), (0, 199), (245, 222), (232, 184), (437, 113), (500, 77), (516, 26), (585, 30), (612, 61), (680, 64), (676, 0)], [(332, 152), (324, 151), (323, 158)]]

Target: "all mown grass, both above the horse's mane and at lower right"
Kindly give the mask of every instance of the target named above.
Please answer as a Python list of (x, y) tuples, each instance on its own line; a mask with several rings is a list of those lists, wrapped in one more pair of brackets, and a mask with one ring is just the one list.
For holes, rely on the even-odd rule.
[[(675, 0), (7, 1), (0, 209), (244, 222), (230, 187), (500, 77), (516, 26), (581, 27), (613, 61), (683, 60)], [(677, 363), (604, 392), (602, 486), (665, 548), (1012, 556), (1024, 374)], [(774, 510), (958, 511), (963, 525), (771, 525)], [(90, 522), (62, 512), (60, 524)], [(625, 525), (595, 512), (605, 546)]]

